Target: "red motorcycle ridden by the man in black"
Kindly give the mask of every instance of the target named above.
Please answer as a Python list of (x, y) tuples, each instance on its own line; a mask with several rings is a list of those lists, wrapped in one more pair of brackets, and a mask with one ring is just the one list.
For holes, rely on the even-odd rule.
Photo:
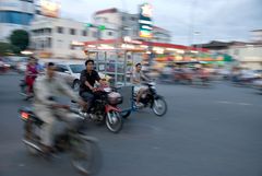
[(122, 96), (110, 87), (98, 87), (94, 95), (95, 99), (87, 113), (83, 113), (81, 108), (79, 112), (98, 125), (106, 124), (109, 131), (119, 132), (123, 125), (121, 110), (118, 108), (122, 103)]

